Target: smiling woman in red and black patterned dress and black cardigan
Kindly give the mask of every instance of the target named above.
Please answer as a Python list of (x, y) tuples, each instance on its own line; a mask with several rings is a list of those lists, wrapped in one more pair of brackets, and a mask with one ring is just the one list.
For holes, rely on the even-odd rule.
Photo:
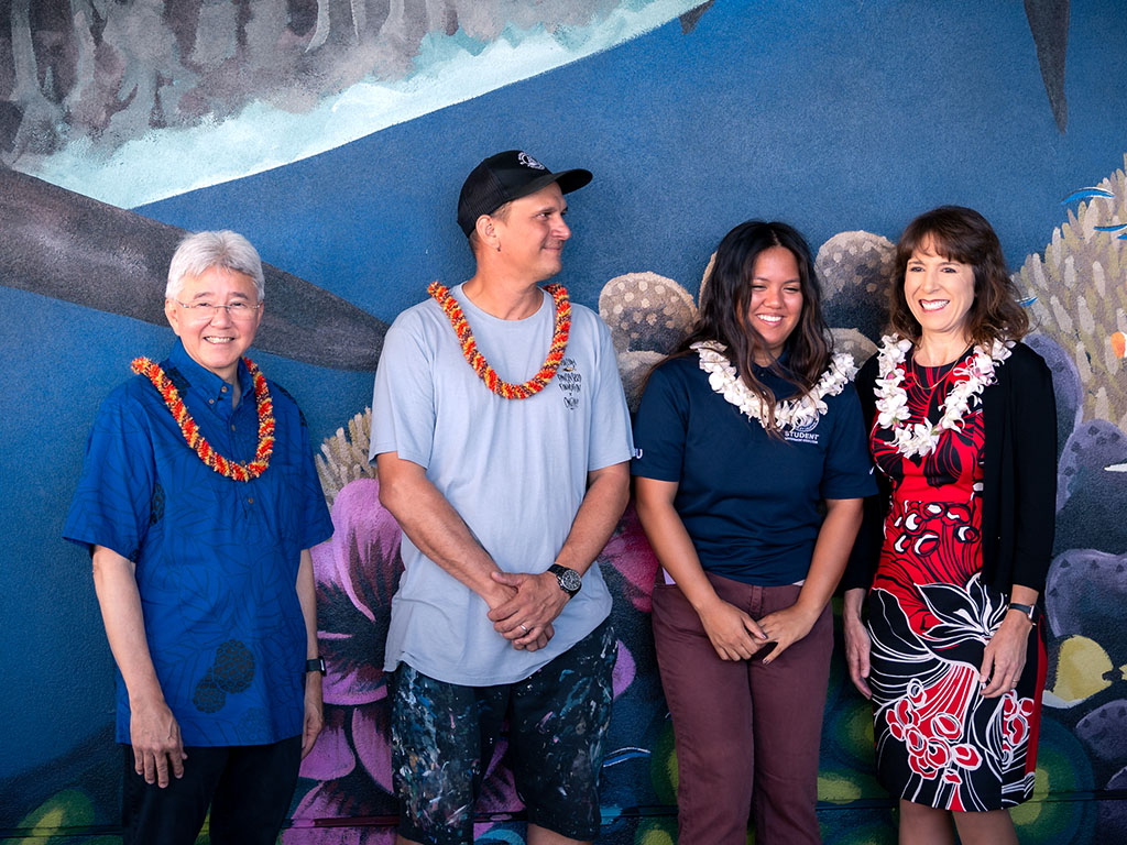
[(953, 843), (949, 813), (964, 845), (1017, 843), (1008, 808), (1032, 794), (1045, 681), (1053, 382), (977, 212), (914, 220), (895, 279), (893, 333), (857, 380), (887, 495), (844, 579), (850, 674), (900, 843)]

